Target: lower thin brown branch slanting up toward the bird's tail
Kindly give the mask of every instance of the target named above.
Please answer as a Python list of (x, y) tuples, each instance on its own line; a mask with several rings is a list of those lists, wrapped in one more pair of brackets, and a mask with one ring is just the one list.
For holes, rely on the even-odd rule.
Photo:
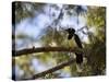
[(23, 80), (35, 80), (35, 79), (45, 77), (45, 75), (48, 74), (48, 73), (52, 73), (52, 72), (55, 72), (55, 71), (57, 71), (57, 70), (60, 70), (60, 69), (62, 69), (62, 68), (64, 68), (64, 67), (66, 67), (66, 66), (72, 65), (74, 61), (75, 61), (75, 59), (69, 59), (69, 61), (64, 61), (64, 62), (62, 62), (62, 63), (60, 63), (60, 65), (58, 65), (58, 66), (56, 66), (56, 67), (53, 67), (53, 68), (51, 68), (51, 69), (48, 69), (48, 70), (46, 70), (46, 71), (43, 71), (43, 72), (40, 72), (40, 73), (37, 73), (37, 74), (33, 75), (33, 77), (29, 78), (29, 79), (23, 79)]

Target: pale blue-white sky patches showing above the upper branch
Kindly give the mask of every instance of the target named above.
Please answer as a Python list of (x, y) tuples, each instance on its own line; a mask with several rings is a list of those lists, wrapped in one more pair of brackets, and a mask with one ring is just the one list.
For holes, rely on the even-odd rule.
[[(52, 8), (51, 4), (46, 4), (44, 7), (45, 13), (36, 14), (35, 17), (26, 17), (22, 20), (19, 24), (16, 24), (15, 34), (25, 34), (34, 39), (38, 40), (43, 35), (45, 35), (45, 30), (49, 25), (52, 24), (52, 22), (59, 16), (60, 10), (63, 8), (63, 4), (57, 4), (57, 8)], [(37, 12), (37, 11), (36, 11)], [(78, 17), (80, 24), (76, 24), (77, 17), (74, 15), (69, 16), (68, 14), (63, 15), (63, 20), (60, 22), (61, 27), (68, 28), (68, 27), (74, 27), (75, 31), (86, 25), (86, 20), (83, 16)], [(57, 27), (59, 31), (59, 28)], [(77, 33), (83, 42), (87, 42), (87, 36), (82, 34), (81, 32)], [(26, 43), (24, 43), (24, 39), (17, 39), (16, 40), (16, 48), (22, 49), (26, 47), (32, 47), (33, 44), (32, 40), (25, 39)], [(38, 42), (37, 42), (38, 43)], [(27, 46), (27, 44), (31, 44)], [(35, 43), (36, 44), (36, 43)], [(38, 43), (39, 44), (39, 43)], [(40, 47), (41, 44), (35, 45), (36, 47)]]

